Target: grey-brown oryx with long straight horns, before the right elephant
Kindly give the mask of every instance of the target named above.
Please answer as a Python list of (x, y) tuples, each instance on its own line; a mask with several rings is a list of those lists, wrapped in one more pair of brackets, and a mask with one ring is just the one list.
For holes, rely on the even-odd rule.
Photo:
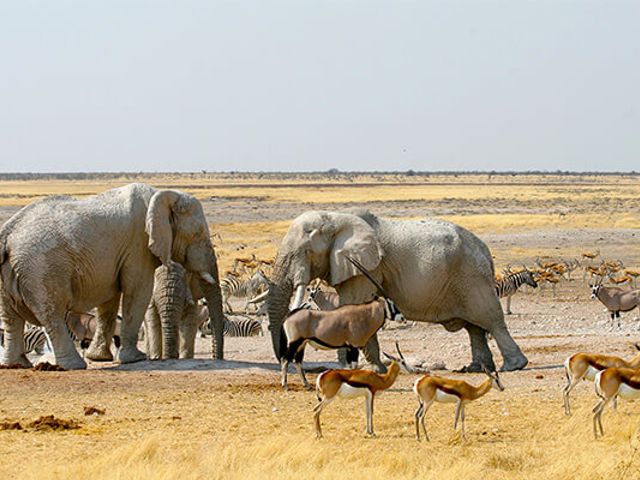
[(287, 370), (291, 361), (294, 362), (305, 388), (311, 388), (302, 368), (307, 343), (324, 350), (347, 348), (347, 363), (352, 364), (358, 360), (358, 350), (363, 349), (374, 338), (385, 320), (405, 321), (404, 315), (388, 297), (382, 285), (357, 260), (346, 258), (377, 287), (383, 297), (361, 305), (343, 305), (336, 310), (303, 308), (290, 312), (281, 327), (281, 338), (286, 342), (281, 359), (282, 388), (285, 390), (288, 389)]

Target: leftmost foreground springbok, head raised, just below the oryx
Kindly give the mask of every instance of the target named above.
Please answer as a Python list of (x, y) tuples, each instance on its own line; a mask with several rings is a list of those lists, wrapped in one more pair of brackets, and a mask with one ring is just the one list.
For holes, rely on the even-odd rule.
[(368, 370), (327, 370), (318, 376), (316, 395), (319, 403), (313, 408), (316, 437), (322, 438), (320, 413), (334, 398), (364, 397), (367, 410), (367, 434), (373, 432), (373, 400), (396, 381), (400, 365), (391, 362), (387, 373), (379, 374)]

